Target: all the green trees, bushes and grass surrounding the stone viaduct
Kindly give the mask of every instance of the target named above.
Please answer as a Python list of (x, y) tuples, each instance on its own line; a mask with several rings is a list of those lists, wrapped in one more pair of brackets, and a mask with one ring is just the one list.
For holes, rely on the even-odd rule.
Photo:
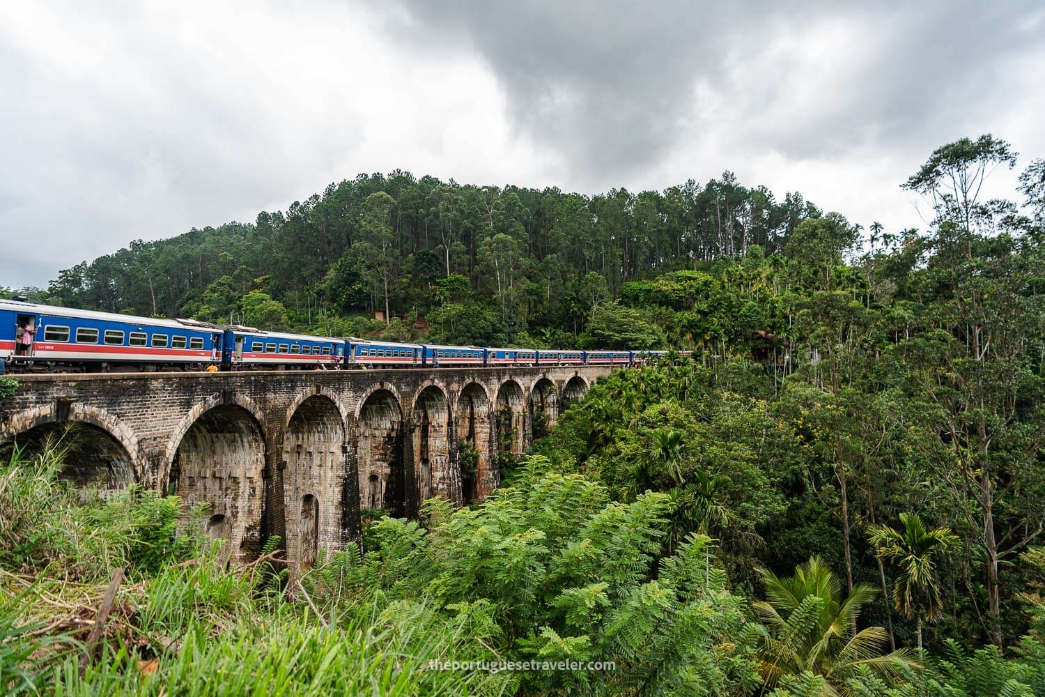
[[(158, 312), (216, 319), (263, 295), (288, 326), (352, 327), (388, 287), (408, 320), (362, 328), (694, 353), (600, 381), (530, 454), (503, 460), (505, 485), (487, 502), (376, 519), (362, 558), (325, 558), (300, 583), (278, 564), (212, 563), (219, 552), (178, 525), (177, 501), (131, 491), (80, 506), (56, 482), (61, 452), (13, 452), (0, 468), (0, 682), (62, 694), (1045, 696), (1045, 161), (1020, 176), (1016, 202), (979, 196), (993, 169), (1015, 166), (990, 136), (938, 148), (903, 184), (932, 225), (896, 235), (794, 196), (756, 216), (758, 191), (738, 187), (726, 207), (726, 185), (712, 183), (689, 189), (678, 218), (670, 191), (644, 203), (489, 190), (478, 209), (488, 227), (450, 216), (456, 236), (440, 238), (438, 206), (408, 214), (404, 191), (481, 204), (484, 190), (403, 177), (400, 189), (353, 194), (358, 210), (338, 218), (336, 251), (310, 275), (310, 261), (273, 265), (301, 257), (279, 251), (304, 229), (292, 215), (278, 230), (236, 226), (235, 263), (193, 257), (200, 269), (172, 277), (177, 288), (113, 273), (115, 257), (63, 274), (52, 297), (109, 309), (152, 312), (155, 296)], [(372, 179), (344, 191), (361, 182)], [(311, 204), (310, 225), (342, 190)], [(576, 217), (532, 217), (544, 209), (531, 194), (573, 202)], [(136, 247), (123, 268), (166, 245), (185, 251), (171, 259), (195, 249)], [(428, 276), (416, 265), (425, 252)], [(389, 258), (395, 273), (382, 276)], [(214, 276), (189, 280), (212, 262)], [(222, 280), (239, 263), (240, 281)], [(322, 319), (302, 321), (309, 308)], [(69, 608), (94, 603), (113, 565), (130, 570), (124, 609), (80, 677)]]

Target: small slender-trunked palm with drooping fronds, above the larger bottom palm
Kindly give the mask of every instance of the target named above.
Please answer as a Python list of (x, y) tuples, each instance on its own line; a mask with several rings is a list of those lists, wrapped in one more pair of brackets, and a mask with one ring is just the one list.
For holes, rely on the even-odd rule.
[(958, 543), (950, 528), (927, 530), (916, 513), (901, 513), (903, 531), (889, 526), (872, 526), (870, 543), (880, 559), (888, 559), (900, 570), (892, 583), (892, 602), (899, 612), (918, 621), (918, 648), (922, 650), (922, 622), (934, 622), (944, 610), (936, 578), (935, 557)]

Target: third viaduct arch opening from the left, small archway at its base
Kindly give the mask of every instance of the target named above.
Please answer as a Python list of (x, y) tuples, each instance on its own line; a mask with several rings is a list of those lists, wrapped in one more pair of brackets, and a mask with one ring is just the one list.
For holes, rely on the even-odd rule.
[[(311, 563), (319, 548), (335, 549), (339, 516), (324, 511), (320, 517), (319, 498), (311, 496), (312, 508), (298, 501), (302, 492), (341, 491), (348, 468), (345, 463), (345, 423), (332, 399), (312, 395), (302, 401), (283, 434), (282, 459), (286, 463), (289, 486), (284, 491), (283, 510), (287, 517), (287, 556), (299, 563)], [(346, 511), (341, 511), (345, 515)]]

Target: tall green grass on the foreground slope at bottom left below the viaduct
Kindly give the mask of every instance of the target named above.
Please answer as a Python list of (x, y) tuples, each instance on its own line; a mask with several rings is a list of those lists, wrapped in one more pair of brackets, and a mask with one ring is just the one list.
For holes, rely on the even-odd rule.
[[(507, 675), (428, 670), (489, 659), (468, 612), (323, 597), (268, 564), (228, 564), (177, 497), (113, 501), (60, 481), (65, 451), (9, 447), (0, 462), (0, 693), (457, 695), (512, 692)], [(86, 670), (84, 640), (117, 566), (127, 577)], [(306, 582), (305, 586), (314, 587)], [(310, 598), (309, 598), (310, 601)]]

